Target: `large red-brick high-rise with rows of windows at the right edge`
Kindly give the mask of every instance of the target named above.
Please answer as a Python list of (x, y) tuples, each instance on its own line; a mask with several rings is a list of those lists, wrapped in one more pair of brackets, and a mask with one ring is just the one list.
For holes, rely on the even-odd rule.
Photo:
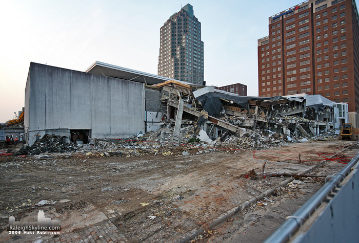
[(258, 40), (260, 96), (319, 94), (359, 113), (359, 17), (354, 0), (309, 0), (269, 17)]

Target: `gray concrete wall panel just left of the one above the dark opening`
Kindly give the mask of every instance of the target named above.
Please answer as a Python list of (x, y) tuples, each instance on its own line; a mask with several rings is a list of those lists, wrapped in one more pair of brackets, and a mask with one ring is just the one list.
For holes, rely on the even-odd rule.
[(71, 72), (47, 66), (45, 129), (70, 127), (70, 92)]

